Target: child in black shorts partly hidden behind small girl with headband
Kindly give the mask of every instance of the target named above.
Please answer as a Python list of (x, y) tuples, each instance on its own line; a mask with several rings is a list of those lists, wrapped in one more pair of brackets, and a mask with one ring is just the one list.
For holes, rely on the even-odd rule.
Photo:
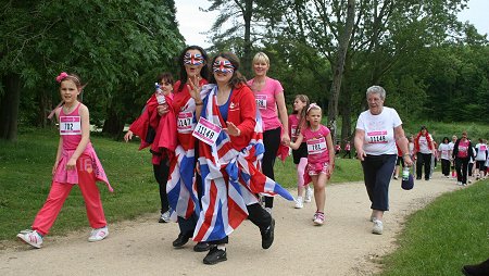
[[(296, 96), (293, 100), (293, 112), (289, 116), (289, 135), (292, 141), (296, 141), (301, 133), (301, 129), (305, 126), (305, 111), (309, 108), (309, 98), (305, 95)], [(299, 146), (299, 149), (292, 150), (293, 164), (297, 167), (297, 199), (296, 208), (301, 209), (304, 206), (303, 202), (311, 202), (312, 189), (306, 185), (305, 198), (304, 193), (304, 172), (308, 165), (308, 146), (305, 141)]]

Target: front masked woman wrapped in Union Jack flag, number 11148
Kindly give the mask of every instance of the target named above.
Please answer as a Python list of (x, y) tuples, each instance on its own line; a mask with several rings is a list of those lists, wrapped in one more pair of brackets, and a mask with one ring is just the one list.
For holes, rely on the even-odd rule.
[(199, 139), (203, 186), (193, 240), (211, 244), (204, 264), (227, 260), (228, 235), (246, 218), (260, 228), (262, 248), (272, 246), (275, 221), (260, 205), (256, 193), (278, 193), (293, 200), (256, 168), (263, 155), (262, 123), (253, 93), (238, 72), (238, 58), (220, 53), (212, 61), (212, 70), (210, 85), (201, 92), (203, 108), (193, 131)]

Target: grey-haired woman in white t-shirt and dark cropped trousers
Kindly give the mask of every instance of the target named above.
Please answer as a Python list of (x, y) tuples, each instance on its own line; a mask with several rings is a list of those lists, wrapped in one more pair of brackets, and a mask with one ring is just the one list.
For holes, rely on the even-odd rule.
[(359, 116), (354, 143), (372, 202), (372, 233), (380, 235), (384, 230), (384, 212), (389, 210), (390, 176), (398, 156), (396, 143), (402, 151), (405, 165), (411, 166), (413, 161), (398, 112), (384, 106), (386, 90), (380, 86), (372, 86), (366, 91), (366, 98), (368, 110)]

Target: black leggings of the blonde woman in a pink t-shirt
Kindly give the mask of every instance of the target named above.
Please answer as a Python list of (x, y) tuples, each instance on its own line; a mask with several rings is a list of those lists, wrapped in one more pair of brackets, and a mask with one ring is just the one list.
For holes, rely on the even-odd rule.
[[(269, 129), (263, 133), (263, 146), (265, 153), (262, 160), (262, 172), (264, 175), (275, 180), (274, 165), (280, 146), (280, 127)], [(274, 206), (274, 198), (265, 197), (265, 208)]]

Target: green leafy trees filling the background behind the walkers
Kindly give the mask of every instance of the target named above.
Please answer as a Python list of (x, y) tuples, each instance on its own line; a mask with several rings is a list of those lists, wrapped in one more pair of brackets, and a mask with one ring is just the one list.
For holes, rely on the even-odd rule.
[[(20, 126), (52, 125), (62, 71), (87, 83), (91, 123), (115, 138), (140, 113), (158, 73), (178, 77), (185, 39), (173, 0), (0, 2), (0, 139), (15, 140)], [(287, 103), (308, 95), (341, 141), (372, 85), (386, 88), (385, 104), (404, 122), (489, 123), (488, 39), (457, 21), (465, 0), (209, 2), (208, 11), (221, 11), (210, 17), (210, 55), (237, 53), (251, 78), (251, 59), (264, 51)]]

